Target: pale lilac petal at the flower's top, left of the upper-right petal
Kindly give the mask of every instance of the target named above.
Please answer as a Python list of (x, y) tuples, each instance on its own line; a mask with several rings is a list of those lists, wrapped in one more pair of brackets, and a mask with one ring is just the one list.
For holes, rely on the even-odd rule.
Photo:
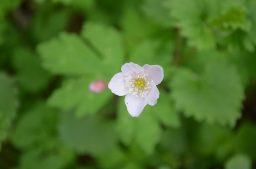
[(139, 65), (132, 63), (132, 62), (125, 63), (121, 67), (121, 71), (126, 76), (136, 75), (137, 72), (139, 72), (139, 75), (141, 75), (141, 76), (144, 74), (144, 69), (142, 67), (140, 67)]

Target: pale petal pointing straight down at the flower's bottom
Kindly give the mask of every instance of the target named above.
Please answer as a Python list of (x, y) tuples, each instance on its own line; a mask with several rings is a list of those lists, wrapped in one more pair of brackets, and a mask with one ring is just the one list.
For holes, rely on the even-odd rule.
[(135, 95), (128, 94), (125, 96), (125, 105), (129, 114), (132, 117), (138, 117), (147, 105), (145, 97), (136, 97)]

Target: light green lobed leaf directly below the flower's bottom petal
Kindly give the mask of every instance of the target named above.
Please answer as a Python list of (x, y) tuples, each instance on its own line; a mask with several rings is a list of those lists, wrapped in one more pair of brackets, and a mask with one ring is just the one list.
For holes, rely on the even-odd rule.
[(121, 141), (129, 145), (135, 139), (147, 154), (152, 154), (154, 146), (160, 140), (162, 129), (152, 115), (151, 107), (146, 106), (139, 118), (131, 117), (123, 99), (119, 99), (116, 124)]

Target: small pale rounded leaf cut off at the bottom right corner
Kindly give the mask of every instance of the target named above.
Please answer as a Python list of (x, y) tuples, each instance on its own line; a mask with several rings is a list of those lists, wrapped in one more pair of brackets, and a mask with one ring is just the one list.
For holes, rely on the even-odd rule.
[(246, 155), (235, 155), (225, 164), (225, 169), (251, 169), (252, 161)]

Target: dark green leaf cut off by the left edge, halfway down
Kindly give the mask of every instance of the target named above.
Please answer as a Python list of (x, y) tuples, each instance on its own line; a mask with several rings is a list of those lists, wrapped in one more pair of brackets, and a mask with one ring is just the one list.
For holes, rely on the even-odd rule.
[(11, 77), (0, 72), (0, 146), (6, 139), (12, 120), (16, 116), (18, 100), (17, 88)]

